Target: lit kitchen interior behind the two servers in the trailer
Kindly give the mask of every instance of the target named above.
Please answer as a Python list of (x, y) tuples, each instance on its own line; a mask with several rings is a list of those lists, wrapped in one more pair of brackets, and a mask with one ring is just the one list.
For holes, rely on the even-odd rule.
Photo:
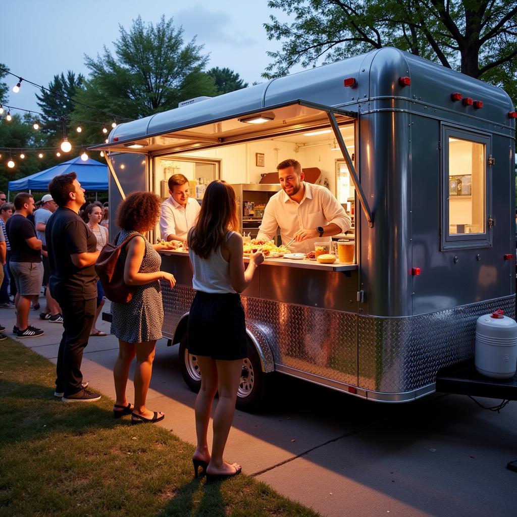
[[(354, 124), (342, 125), (340, 131), (355, 164)], [(241, 233), (254, 238), (268, 200), (280, 190), (276, 166), (287, 158), (301, 163), (306, 181), (329, 188), (351, 216), (352, 229), (333, 239), (353, 240), (355, 188), (330, 128), (156, 157), (155, 192), (160, 192), (163, 199), (169, 197), (167, 180), (173, 174), (184, 174), (189, 179), (191, 196), (201, 203), (210, 181), (224, 179), (237, 194)], [(277, 245), (278, 239), (279, 236)]]

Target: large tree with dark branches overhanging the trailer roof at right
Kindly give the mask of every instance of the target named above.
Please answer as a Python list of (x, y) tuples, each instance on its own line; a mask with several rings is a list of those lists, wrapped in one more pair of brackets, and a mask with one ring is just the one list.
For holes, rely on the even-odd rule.
[(270, 16), (265, 78), (301, 63), (315, 66), (392, 45), (513, 91), (517, 56), (515, 0), (270, 0), (292, 23)]

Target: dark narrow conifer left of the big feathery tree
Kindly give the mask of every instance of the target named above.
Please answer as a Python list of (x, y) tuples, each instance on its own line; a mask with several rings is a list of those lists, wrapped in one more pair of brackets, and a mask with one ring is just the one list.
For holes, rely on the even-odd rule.
[(51, 145), (63, 136), (62, 122), (56, 117), (70, 117), (73, 111), (73, 102), (70, 99), (77, 93), (83, 82), (84, 76), (81, 73), (76, 78), (75, 74), (68, 70), (66, 77), (63, 72), (61, 75), (54, 75), (54, 79), (49, 83), (50, 92), (41, 89), (41, 95), (36, 94), (38, 106), (43, 113), (39, 121), (41, 131), (50, 135)]

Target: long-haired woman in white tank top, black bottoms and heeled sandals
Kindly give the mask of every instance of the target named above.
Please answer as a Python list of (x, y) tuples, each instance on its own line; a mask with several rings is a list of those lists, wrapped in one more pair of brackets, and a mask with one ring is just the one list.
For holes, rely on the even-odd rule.
[[(242, 261), (242, 236), (238, 229), (235, 191), (226, 181), (212, 181), (203, 197), (201, 212), (188, 235), (189, 255), (197, 291), (189, 313), (189, 352), (197, 356), (201, 389), (195, 402), (197, 448), (192, 462), (207, 480), (235, 476), (241, 467), (223, 461), (226, 439), (232, 426), (242, 359), (247, 356), (246, 324), (241, 293), (255, 269), (264, 262), (257, 251), (248, 267)], [(212, 401), (219, 392), (214, 414), (211, 454), (207, 444)]]

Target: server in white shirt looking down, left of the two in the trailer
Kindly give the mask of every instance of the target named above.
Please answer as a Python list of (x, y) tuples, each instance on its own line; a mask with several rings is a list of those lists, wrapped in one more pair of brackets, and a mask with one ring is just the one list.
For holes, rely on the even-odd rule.
[(187, 234), (195, 224), (201, 208), (189, 197), (189, 180), (183, 174), (173, 174), (169, 178), (168, 199), (162, 203), (160, 233), (163, 240), (177, 240), (186, 244)]

